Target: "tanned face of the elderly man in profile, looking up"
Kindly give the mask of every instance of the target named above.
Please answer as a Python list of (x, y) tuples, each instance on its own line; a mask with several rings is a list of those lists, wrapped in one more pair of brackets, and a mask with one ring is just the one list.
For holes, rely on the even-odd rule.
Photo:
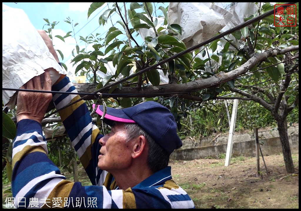
[(98, 167), (114, 173), (126, 170), (132, 162), (132, 142), (126, 143), (124, 123), (115, 122), (110, 133), (99, 140), (102, 145), (98, 155)]

